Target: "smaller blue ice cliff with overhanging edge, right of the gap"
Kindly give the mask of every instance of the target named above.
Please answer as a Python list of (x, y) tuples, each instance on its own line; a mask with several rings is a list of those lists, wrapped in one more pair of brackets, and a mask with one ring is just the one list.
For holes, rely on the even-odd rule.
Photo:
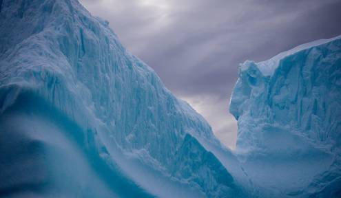
[(341, 36), (246, 61), (229, 111), (261, 197), (341, 195)]

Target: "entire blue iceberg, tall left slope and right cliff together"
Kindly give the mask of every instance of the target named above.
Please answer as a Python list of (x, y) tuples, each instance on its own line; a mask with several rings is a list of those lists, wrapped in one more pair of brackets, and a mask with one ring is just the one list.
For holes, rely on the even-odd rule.
[(240, 65), (231, 151), (108, 24), (0, 1), (0, 197), (341, 196), (341, 36)]

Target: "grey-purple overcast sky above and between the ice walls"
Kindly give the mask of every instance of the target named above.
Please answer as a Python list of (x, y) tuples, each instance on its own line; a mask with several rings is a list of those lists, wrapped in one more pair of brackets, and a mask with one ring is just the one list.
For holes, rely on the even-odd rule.
[(110, 22), (127, 50), (234, 148), (229, 98), (246, 60), (265, 61), (296, 45), (341, 34), (335, 0), (81, 0)]

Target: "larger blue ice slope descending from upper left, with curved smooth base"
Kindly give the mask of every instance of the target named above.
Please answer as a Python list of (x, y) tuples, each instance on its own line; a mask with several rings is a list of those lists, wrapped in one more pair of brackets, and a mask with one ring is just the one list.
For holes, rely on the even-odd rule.
[(76, 0), (0, 1), (0, 197), (242, 196), (229, 159), (107, 21)]

